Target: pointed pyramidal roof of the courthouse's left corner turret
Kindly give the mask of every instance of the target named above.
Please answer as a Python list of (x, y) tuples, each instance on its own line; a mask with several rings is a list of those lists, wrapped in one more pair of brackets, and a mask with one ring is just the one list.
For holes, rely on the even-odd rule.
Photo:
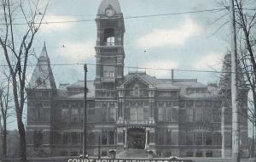
[(56, 89), (55, 78), (50, 67), (45, 42), (42, 53), (38, 58), (38, 64), (33, 71), (28, 84), (29, 89)]

